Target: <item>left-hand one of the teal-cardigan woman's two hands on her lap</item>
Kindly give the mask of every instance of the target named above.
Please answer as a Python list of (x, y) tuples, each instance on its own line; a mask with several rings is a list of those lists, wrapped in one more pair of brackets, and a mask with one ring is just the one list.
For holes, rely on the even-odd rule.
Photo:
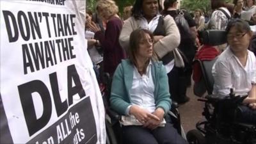
[(134, 115), (135, 118), (139, 120), (139, 122), (143, 125), (146, 124), (148, 120), (156, 120), (156, 121), (160, 120), (160, 118), (158, 118), (156, 115), (136, 105), (131, 106), (129, 113), (131, 115)]

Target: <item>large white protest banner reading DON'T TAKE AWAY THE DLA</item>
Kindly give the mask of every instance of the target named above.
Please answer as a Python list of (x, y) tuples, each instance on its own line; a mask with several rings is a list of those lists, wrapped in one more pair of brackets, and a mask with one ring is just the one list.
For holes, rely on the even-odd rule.
[(0, 143), (105, 143), (85, 0), (1, 0)]

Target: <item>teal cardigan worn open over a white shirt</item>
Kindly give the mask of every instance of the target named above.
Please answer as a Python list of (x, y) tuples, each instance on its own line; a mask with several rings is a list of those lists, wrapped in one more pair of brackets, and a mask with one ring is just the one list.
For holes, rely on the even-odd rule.
[[(170, 108), (168, 77), (162, 62), (152, 61), (152, 77), (155, 85), (154, 97), (156, 108), (163, 108), (166, 114)], [(125, 115), (125, 110), (131, 105), (130, 90), (132, 87), (134, 67), (130, 60), (122, 60), (116, 68), (111, 86), (111, 108), (120, 115)]]

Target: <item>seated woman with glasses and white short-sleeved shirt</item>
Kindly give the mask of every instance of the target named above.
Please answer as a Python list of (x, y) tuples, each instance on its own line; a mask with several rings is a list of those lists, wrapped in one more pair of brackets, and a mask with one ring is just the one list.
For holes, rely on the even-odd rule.
[(243, 100), (240, 121), (256, 122), (256, 60), (248, 50), (252, 31), (247, 22), (241, 19), (231, 20), (227, 29), (228, 47), (223, 51), (212, 68), (214, 94), (228, 95), (230, 88), (236, 95), (248, 95)]

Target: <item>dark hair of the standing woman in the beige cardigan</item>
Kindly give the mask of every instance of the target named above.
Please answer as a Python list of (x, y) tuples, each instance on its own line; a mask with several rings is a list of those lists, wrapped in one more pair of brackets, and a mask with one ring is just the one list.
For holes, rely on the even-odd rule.
[[(136, 0), (132, 7), (132, 16), (135, 19), (139, 19), (139, 18), (143, 17), (143, 11), (142, 11), (143, 1), (144, 0)], [(158, 3), (158, 11), (161, 12), (163, 9), (160, 4), (160, 0), (157, 0), (157, 3)]]

